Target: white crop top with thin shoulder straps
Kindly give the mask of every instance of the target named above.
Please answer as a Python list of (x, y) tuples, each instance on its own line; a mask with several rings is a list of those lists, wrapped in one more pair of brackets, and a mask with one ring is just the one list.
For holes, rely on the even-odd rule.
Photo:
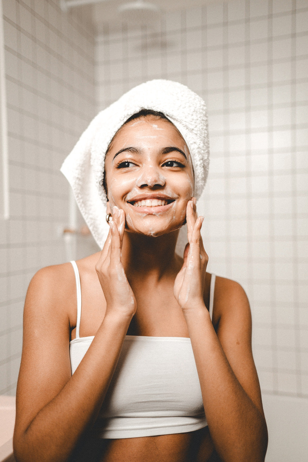
[[(79, 337), (81, 287), (77, 286), (76, 338), (70, 341), (72, 374), (93, 336)], [(215, 275), (211, 275), (212, 319)], [(207, 426), (191, 341), (186, 337), (126, 335), (94, 432), (99, 438), (185, 433)]]

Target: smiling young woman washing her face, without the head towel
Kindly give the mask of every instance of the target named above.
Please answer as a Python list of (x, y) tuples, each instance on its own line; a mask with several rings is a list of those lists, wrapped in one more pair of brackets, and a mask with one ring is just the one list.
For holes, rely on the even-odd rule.
[[(165, 98), (166, 84), (155, 85)], [(171, 116), (144, 107), (100, 159), (109, 225), (102, 251), (44, 268), (30, 283), (17, 462), (264, 461), (247, 297), (206, 273), (193, 144)]]

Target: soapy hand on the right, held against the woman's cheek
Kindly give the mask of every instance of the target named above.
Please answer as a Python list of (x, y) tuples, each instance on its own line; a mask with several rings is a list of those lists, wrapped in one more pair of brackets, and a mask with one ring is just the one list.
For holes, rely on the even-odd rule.
[(196, 200), (187, 202), (186, 221), (188, 243), (184, 250), (184, 261), (175, 278), (174, 295), (183, 311), (204, 305), (203, 291), (208, 256), (200, 234), (204, 217), (197, 217)]

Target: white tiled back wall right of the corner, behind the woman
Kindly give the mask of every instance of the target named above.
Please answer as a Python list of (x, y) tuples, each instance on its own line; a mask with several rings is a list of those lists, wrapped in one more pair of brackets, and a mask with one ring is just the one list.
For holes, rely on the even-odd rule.
[(211, 166), (199, 202), (209, 271), (251, 302), (262, 390), (308, 395), (308, 4), (242, 0), (167, 13), (158, 32), (98, 36), (98, 109), (153, 78), (205, 98)]

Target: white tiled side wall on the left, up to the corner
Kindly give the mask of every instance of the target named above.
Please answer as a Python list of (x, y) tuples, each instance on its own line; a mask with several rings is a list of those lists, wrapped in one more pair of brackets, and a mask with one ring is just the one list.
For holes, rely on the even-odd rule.
[(95, 113), (94, 38), (56, 0), (3, 0), (11, 218), (0, 221), (0, 394), (14, 394), (27, 286), (64, 260), (60, 165)]

